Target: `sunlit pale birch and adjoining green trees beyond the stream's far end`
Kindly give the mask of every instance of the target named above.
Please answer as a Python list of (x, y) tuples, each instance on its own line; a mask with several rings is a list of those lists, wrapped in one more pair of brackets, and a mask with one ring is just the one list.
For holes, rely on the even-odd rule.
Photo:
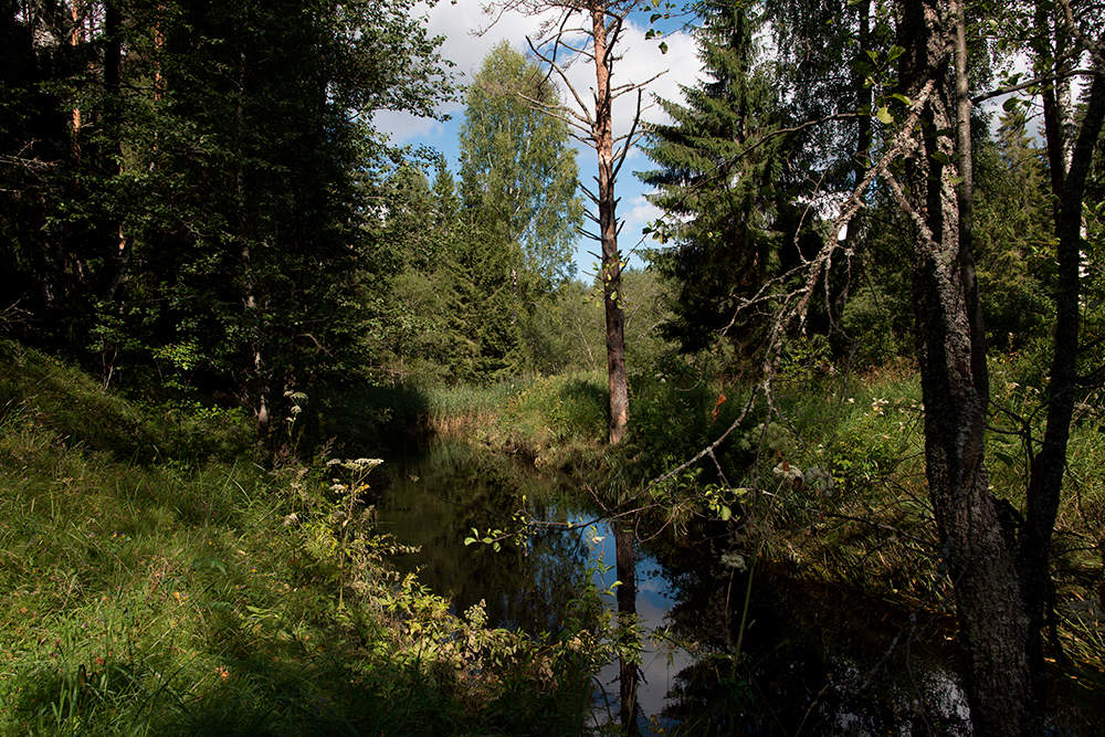
[(380, 190), (386, 238), (406, 245), (381, 310), (392, 380), (487, 383), (559, 360), (540, 345), (544, 315), (571, 275), (582, 210), (556, 91), (504, 43), (466, 104), (460, 187), (439, 160), (432, 188), (404, 164)]

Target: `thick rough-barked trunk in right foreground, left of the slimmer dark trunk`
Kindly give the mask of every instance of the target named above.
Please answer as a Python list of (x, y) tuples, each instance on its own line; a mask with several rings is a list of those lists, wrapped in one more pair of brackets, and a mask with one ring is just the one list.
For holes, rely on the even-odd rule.
[(955, 189), (949, 33), (955, 29), (948, 4), (899, 6), (899, 43), (908, 50), (903, 85), (908, 92), (929, 80), (937, 85), (922, 116), (918, 146), (906, 160), (908, 193), (902, 194), (916, 231), (912, 281), (926, 475), (956, 593), (971, 720), (980, 735), (1021, 735), (1030, 731), (1034, 713), (1024, 649), (1028, 618), (983, 462), (988, 389), (977, 344), (977, 287), (965, 261)]

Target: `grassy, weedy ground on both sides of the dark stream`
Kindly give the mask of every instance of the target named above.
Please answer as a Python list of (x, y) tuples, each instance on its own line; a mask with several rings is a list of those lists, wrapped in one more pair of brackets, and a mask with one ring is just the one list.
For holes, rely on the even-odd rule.
[[(1031, 369), (993, 369), (996, 401), (1029, 417)], [(660, 525), (728, 525), (735, 545), (796, 579), (949, 614), (909, 367), (782, 379), (777, 412), (750, 413), (716, 467), (644, 495), (630, 489), (728, 428), (748, 387), (638, 376), (617, 452), (603, 449), (599, 373), (392, 388), (350, 400), (350, 414), (387, 412), (345, 449), (413, 422), (572, 474)], [(1099, 402), (1080, 407), (1053, 562), (1071, 661), (1056, 675), (1074, 699), (1103, 687), (1103, 424)], [(1017, 505), (1020, 440), (991, 432), (988, 457)], [(255, 461), (239, 413), (143, 407), (0, 343), (0, 734), (579, 730), (589, 675), (609, 655), (598, 635), (493, 630), (396, 573), (401, 546), (360, 503), (371, 463)]]

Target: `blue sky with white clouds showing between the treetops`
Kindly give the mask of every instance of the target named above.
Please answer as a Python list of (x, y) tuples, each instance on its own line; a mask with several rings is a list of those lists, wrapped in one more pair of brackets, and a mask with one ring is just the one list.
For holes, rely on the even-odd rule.
[[(507, 41), (516, 51), (528, 54), (526, 36), (536, 40), (540, 29), (541, 17), (507, 13), (496, 23), (490, 25), (493, 17), (483, 12), (485, 0), (443, 0), (429, 9), (427, 20), (430, 32), (444, 36), (441, 46), (442, 56), (456, 64), (455, 71), (461, 75), (460, 82), (466, 84), (478, 71), (484, 56), (501, 41)], [(665, 99), (682, 102), (680, 85), (694, 85), (702, 76), (702, 65), (697, 59), (696, 46), (691, 34), (682, 29), (686, 19), (661, 19), (657, 30), (663, 31), (662, 38), (646, 39), (650, 27), (650, 12), (638, 12), (630, 18), (624, 29), (621, 45), (622, 59), (618, 60), (613, 71), (613, 84), (628, 82), (645, 82), (657, 73), (663, 74), (651, 82), (645, 90), (644, 101), (651, 101), (651, 94)], [(490, 28), (488, 28), (490, 25)], [(482, 33), (478, 33), (483, 31)], [(662, 53), (660, 42), (666, 44), (666, 53)], [(573, 64), (568, 70), (572, 85), (583, 95), (594, 86), (593, 65)], [(561, 92), (567, 99), (566, 91)], [(631, 99), (632, 97), (632, 99)], [(586, 97), (585, 97), (586, 98)], [(624, 95), (614, 103), (613, 123), (614, 136), (629, 131), (633, 122), (635, 96)], [(457, 168), (457, 136), (464, 106), (461, 102), (451, 103), (441, 108), (442, 113), (452, 116), (448, 122), (431, 118), (418, 118), (406, 113), (383, 110), (376, 114), (376, 127), (387, 133), (392, 144), (412, 146), (430, 146), (441, 151), (450, 166)], [(656, 106), (645, 109), (642, 120), (665, 122), (663, 112)], [(593, 182), (596, 176), (594, 151), (577, 146), (576, 160), (580, 178), (585, 182)], [(640, 150), (630, 152), (619, 176), (615, 194), (621, 198), (618, 214), (625, 223), (619, 239), (623, 254), (630, 255), (631, 264), (641, 266), (642, 261), (632, 254), (641, 241), (641, 229), (660, 215), (660, 211), (645, 200), (646, 188), (633, 176), (633, 171), (653, 168), (652, 162)], [(590, 187), (593, 191), (594, 187)], [(587, 277), (593, 274), (598, 257), (598, 244), (588, 239), (580, 239), (576, 248), (575, 263), (577, 275)]]

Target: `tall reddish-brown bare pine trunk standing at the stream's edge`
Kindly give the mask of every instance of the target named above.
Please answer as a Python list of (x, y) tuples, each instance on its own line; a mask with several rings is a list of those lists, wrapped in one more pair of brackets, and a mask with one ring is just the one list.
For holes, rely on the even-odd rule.
[(614, 214), (614, 154), (611, 116), (610, 69), (612, 50), (607, 46), (606, 2), (592, 2), (594, 36), (596, 105), (593, 136), (599, 158), (599, 235), (602, 239), (602, 297), (607, 317), (607, 375), (610, 381), (608, 440), (621, 442), (629, 424), (629, 381), (625, 376), (625, 315), (622, 312), (621, 253)]

